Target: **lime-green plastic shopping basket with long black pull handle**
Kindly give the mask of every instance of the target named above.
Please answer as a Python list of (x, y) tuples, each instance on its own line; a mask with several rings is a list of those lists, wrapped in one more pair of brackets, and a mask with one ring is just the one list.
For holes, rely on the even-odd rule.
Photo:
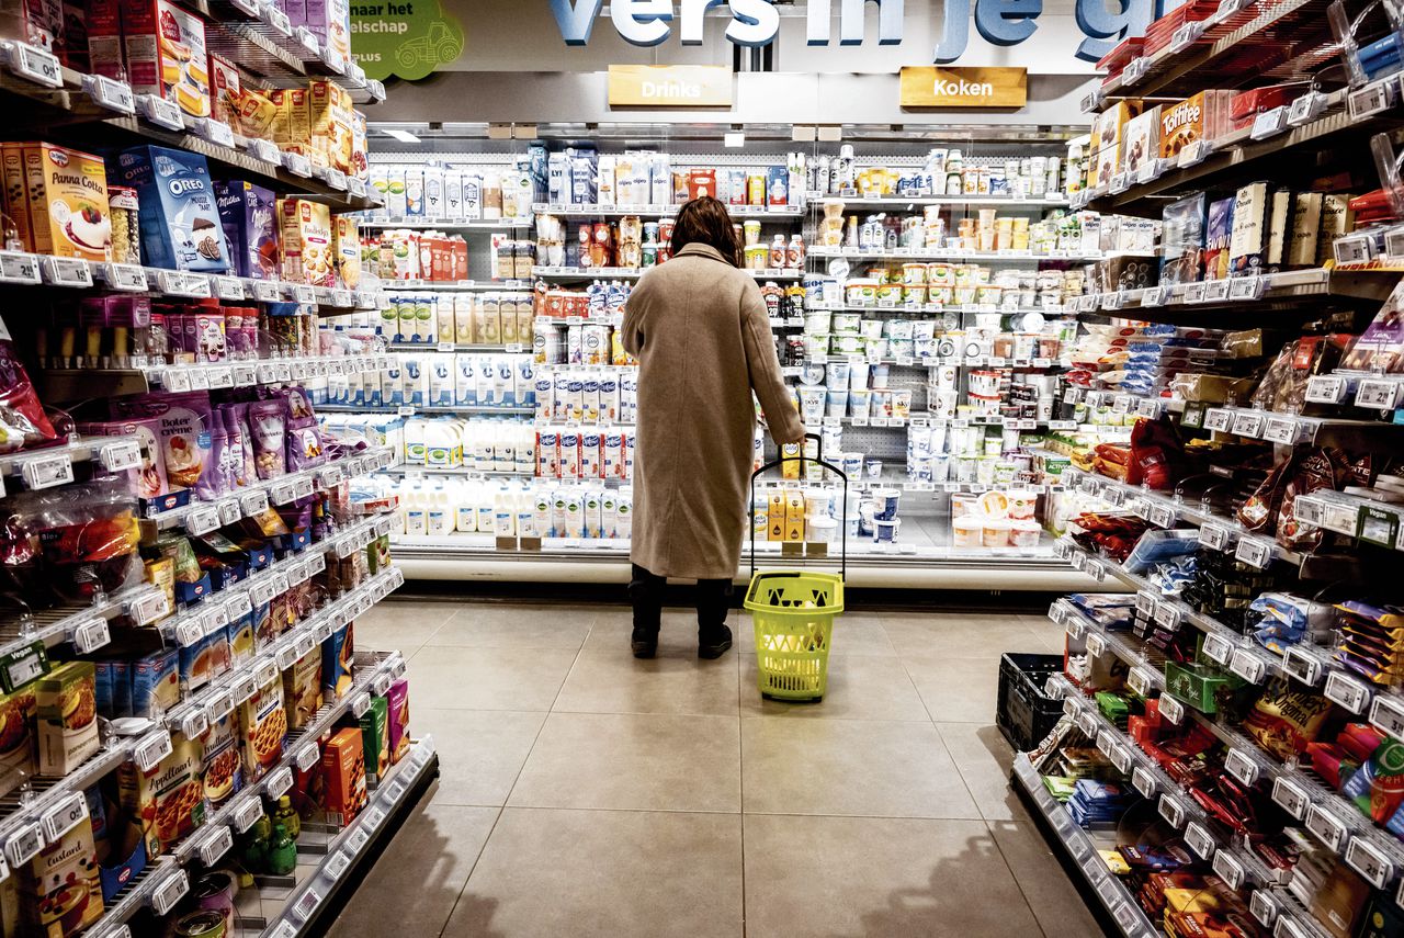
[[(809, 434), (814, 437), (814, 434)], [(814, 437), (817, 440), (817, 437)], [(820, 442), (823, 447), (823, 442)], [(820, 458), (800, 456), (844, 480), (844, 517), (848, 515), (848, 476)], [(848, 532), (841, 535), (840, 573), (804, 570), (755, 572), (755, 479), (778, 466), (769, 462), (751, 473), (751, 584), (744, 607), (755, 625), (755, 663), (761, 696), (782, 701), (820, 701), (828, 680), (828, 649), (834, 616), (844, 611), (844, 577), (848, 573)], [(840, 525), (844, 527), (842, 524)]]

